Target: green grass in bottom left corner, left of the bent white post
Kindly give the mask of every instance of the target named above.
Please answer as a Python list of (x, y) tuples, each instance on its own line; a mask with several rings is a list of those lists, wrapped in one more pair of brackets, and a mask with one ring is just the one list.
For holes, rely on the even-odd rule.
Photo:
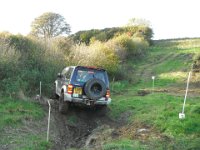
[(46, 142), (46, 132), (37, 134), (32, 129), (29, 132), (21, 128), (23, 121), (37, 121), (42, 117), (44, 110), (34, 102), (0, 98), (0, 145), (9, 145), (10, 149), (16, 150), (49, 149), (51, 144)]

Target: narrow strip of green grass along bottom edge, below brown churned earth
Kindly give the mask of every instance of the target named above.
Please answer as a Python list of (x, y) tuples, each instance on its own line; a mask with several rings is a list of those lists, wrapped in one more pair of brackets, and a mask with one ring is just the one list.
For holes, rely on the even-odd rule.
[(103, 150), (165, 150), (165, 149), (192, 149), (198, 150), (200, 147), (199, 144), (200, 138), (188, 139), (186, 137), (176, 138), (173, 141), (169, 140), (168, 142), (160, 139), (151, 139), (148, 142), (144, 143), (139, 140), (131, 139), (118, 139), (112, 142), (108, 142), (103, 146)]

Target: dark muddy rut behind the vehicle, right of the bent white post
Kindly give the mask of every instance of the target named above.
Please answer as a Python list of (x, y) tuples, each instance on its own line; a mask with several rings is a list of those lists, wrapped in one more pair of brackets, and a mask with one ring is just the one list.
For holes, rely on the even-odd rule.
[[(71, 106), (68, 113), (63, 115), (58, 112), (56, 100), (51, 100), (51, 105), (50, 141), (53, 143), (53, 150), (82, 149), (95, 145), (95, 134), (99, 134), (94, 132), (96, 129), (113, 129), (116, 126), (114, 121), (98, 110)], [(48, 112), (48, 107), (45, 106), (45, 110)], [(92, 139), (91, 136), (95, 138)]]

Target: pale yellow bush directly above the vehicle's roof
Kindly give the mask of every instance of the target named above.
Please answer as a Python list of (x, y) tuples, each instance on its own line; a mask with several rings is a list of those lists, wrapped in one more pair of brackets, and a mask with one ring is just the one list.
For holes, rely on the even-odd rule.
[(119, 59), (114, 49), (95, 41), (90, 46), (76, 45), (71, 50), (72, 65), (97, 66), (105, 68), (110, 74), (117, 71)]

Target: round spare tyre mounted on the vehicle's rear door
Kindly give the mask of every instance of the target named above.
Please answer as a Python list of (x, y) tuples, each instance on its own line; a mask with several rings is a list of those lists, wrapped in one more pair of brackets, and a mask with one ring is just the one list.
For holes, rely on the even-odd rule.
[(90, 79), (84, 87), (87, 97), (93, 100), (97, 100), (106, 94), (106, 85), (100, 79)]

